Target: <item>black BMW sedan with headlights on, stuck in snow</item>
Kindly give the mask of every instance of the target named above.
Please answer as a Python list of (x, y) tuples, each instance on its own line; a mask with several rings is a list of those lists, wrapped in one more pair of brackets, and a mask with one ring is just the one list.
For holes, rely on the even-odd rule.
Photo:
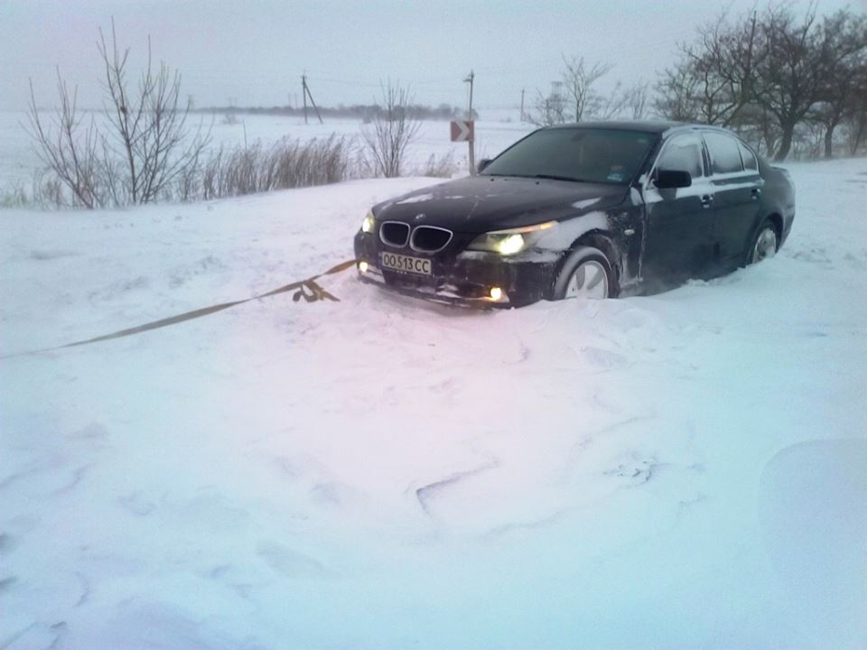
[(542, 128), (476, 176), (374, 206), (359, 277), (438, 302), (519, 307), (657, 292), (774, 255), (795, 218), (788, 173), (722, 128)]

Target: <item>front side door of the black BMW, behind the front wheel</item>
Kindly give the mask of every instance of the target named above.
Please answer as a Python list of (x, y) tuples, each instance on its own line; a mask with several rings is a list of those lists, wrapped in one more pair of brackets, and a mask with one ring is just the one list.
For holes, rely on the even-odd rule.
[[(689, 172), (692, 185), (658, 189), (657, 169)], [(697, 132), (673, 135), (663, 144), (644, 190), (647, 237), (641, 262), (645, 284), (676, 283), (701, 274), (713, 250), (713, 187), (704, 143)]]

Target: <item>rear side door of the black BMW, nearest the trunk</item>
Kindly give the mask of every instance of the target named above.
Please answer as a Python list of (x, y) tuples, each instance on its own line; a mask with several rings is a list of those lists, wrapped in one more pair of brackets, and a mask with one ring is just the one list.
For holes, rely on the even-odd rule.
[(754, 153), (733, 135), (705, 131), (713, 184), (713, 238), (720, 263), (730, 268), (743, 263), (746, 246), (761, 217), (764, 185)]

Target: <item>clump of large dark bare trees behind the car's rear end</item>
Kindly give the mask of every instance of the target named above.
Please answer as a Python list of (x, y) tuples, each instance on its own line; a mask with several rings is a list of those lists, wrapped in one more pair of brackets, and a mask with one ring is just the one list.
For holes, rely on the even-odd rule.
[(680, 50), (657, 84), (660, 114), (734, 128), (776, 160), (797, 138), (798, 154), (815, 152), (822, 131), (830, 156), (834, 130), (857, 101), (867, 17), (843, 10), (820, 20), (816, 5), (801, 17), (770, 5), (736, 20), (722, 14)]

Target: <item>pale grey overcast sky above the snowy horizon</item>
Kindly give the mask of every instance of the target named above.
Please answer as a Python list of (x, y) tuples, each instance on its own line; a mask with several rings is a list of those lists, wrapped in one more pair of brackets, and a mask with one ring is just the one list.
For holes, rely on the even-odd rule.
[[(819, 0), (830, 13), (867, 0)], [(755, 0), (0, 0), (0, 109), (54, 101), (54, 68), (79, 86), (79, 104), (99, 105), (98, 27), (112, 16), (118, 37), (143, 60), (182, 72), (182, 92), (202, 106), (285, 105), (306, 71), (317, 103), (370, 103), (380, 79), (411, 84), (417, 101), (464, 106), (462, 79), (476, 72), (478, 107), (516, 106), (550, 88), (561, 53), (614, 64), (609, 83), (655, 79), (676, 42), (723, 8)], [(807, 2), (793, 3), (803, 11)], [(762, 6), (762, 3), (759, 3)]]

